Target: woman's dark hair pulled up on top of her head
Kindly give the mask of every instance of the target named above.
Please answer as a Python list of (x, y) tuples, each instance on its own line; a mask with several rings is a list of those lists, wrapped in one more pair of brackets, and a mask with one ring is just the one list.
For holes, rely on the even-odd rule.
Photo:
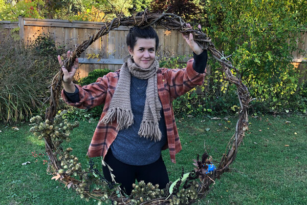
[(137, 43), (137, 38), (155, 38), (157, 51), (159, 45), (159, 37), (157, 32), (151, 26), (143, 29), (137, 26), (130, 28), (126, 41), (127, 46), (130, 46), (131, 49), (134, 49), (134, 46)]

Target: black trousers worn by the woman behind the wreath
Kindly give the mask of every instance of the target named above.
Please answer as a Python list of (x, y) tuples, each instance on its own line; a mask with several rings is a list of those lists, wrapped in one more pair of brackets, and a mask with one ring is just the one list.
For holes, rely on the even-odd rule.
[[(162, 156), (149, 165), (134, 166), (127, 165), (116, 159), (111, 149), (108, 149), (104, 161), (113, 169), (112, 174), (115, 175), (115, 181), (121, 183), (121, 189), (127, 195), (133, 190), (132, 184), (137, 181), (151, 182), (152, 185), (159, 184), (159, 189), (164, 189), (169, 182), (168, 174)], [(103, 175), (106, 180), (112, 181), (111, 174), (107, 167), (102, 167)]]

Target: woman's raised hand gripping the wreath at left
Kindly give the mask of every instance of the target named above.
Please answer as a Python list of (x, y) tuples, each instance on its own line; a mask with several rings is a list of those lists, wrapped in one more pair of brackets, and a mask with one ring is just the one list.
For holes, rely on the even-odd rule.
[[(70, 57), (70, 51), (67, 52), (67, 56)], [(64, 74), (63, 75), (64, 90), (68, 93), (74, 93), (75, 90), (76, 90), (76, 87), (73, 84), (73, 77), (74, 77), (75, 73), (77, 72), (77, 69), (79, 68), (79, 60), (78, 60), (78, 58), (75, 59), (75, 63), (71, 67), (70, 72), (68, 72), (68, 70), (64, 66), (62, 66), (63, 61), (62, 61), (60, 55), (58, 55), (58, 61), (59, 61), (59, 64), (60, 64), (61, 69), (62, 69), (63, 74)]]

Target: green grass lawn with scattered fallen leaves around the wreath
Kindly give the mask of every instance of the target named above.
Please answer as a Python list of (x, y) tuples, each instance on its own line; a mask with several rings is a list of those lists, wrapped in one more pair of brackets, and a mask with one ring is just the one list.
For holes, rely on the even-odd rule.
[[(180, 177), (182, 167), (186, 172), (193, 169), (192, 159), (202, 155), (204, 142), (209, 155), (220, 161), (236, 124), (235, 117), (221, 118), (177, 120), (183, 147), (176, 156), (177, 163), (170, 162), (168, 150), (163, 151), (170, 180)], [(306, 119), (250, 118), (231, 171), (217, 179), (208, 196), (197, 204), (307, 204)], [(73, 147), (73, 154), (83, 163), (96, 123), (81, 122), (65, 145)], [(44, 142), (29, 132), (28, 124), (16, 125), (19, 130), (12, 127), (0, 124), (0, 204), (97, 204), (80, 199), (73, 189), (51, 180), (47, 164), (43, 165), (48, 159), (42, 155)], [(21, 165), (27, 161), (31, 163)]]

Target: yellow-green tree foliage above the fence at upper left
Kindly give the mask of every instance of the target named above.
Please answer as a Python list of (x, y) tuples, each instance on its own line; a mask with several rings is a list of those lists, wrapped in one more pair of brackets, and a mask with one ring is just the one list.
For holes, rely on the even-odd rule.
[[(144, 0), (146, 1), (149, 0)], [(130, 15), (132, 6), (132, 0), (0, 0), (0, 19), (17, 20), (21, 15), (32, 18), (104, 21), (118, 15)]]

